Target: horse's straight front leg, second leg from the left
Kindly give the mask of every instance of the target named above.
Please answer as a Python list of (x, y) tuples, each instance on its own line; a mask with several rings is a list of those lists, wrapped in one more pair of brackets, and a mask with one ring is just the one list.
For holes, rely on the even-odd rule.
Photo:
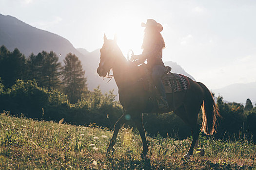
[(142, 118), (143, 118), (142, 113), (132, 117), (133, 121), (135, 122), (135, 124), (138, 128), (138, 132), (139, 132), (139, 135), (140, 135), (142, 143), (143, 143), (143, 152), (141, 153), (141, 157), (144, 159), (144, 158), (146, 158), (147, 153), (148, 153), (148, 144), (147, 144), (147, 140), (146, 140), (145, 129), (144, 129), (144, 125), (142, 122)]

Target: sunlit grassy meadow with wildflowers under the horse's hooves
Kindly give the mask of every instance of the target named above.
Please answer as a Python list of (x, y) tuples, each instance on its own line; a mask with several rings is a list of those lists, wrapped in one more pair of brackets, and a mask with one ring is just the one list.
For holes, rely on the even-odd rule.
[[(0, 114), (1, 170), (168, 170), (213, 169), (256, 170), (256, 145), (244, 139), (215, 140), (200, 137), (205, 156), (182, 156), (191, 139), (175, 140), (160, 136), (147, 137), (148, 158), (140, 158), (140, 136), (122, 128), (118, 134), (112, 160), (105, 156), (112, 131), (95, 126), (84, 127)], [(194, 152), (195, 153), (195, 152)]]

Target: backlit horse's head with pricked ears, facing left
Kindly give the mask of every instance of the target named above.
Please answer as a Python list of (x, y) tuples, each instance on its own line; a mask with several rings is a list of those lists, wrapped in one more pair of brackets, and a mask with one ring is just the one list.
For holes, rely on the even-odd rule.
[(106, 77), (108, 71), (113, 67), (116, 48), (116, 36), (114, 40), (110, 40), (107, 39), (106, 34), (104, 34), (104, 44), (100, 49), (100, 62), (97, 68), (97, 73), (100, 77)]

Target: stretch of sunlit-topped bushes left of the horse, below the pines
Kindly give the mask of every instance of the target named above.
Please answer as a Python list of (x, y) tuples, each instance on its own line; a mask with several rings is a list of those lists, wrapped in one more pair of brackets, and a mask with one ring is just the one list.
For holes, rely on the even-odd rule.
[(78, 125), (95, 122), (99, 126), (113, 127), (122, 114), (115, 97), (113, 90), (103, 95), (98, 86), (86, 98), (71, 104), (67, 95), (39, 87), (35, 80), (17, 80), (6, 90), (0, 83), (0, 110), (34, 119), (59, 121), (64, 118), (66, 122)]

